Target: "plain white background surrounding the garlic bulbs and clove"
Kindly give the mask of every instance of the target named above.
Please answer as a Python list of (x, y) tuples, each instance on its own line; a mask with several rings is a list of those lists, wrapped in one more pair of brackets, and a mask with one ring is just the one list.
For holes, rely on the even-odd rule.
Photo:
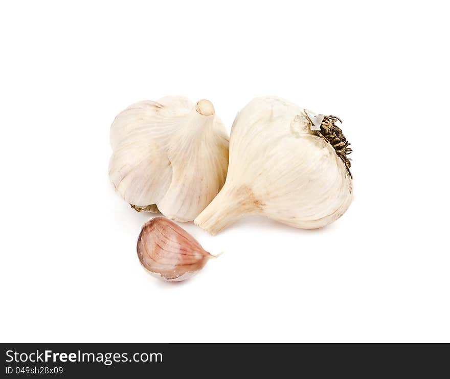
[[(444, 2), (3, 2), (2, 342), (450, 342)], [(340, 116), (354, 202), (321, 230), (246, 218), (190, 281), (139, 264), (107, 175), (140, 100), (256, 96)]]

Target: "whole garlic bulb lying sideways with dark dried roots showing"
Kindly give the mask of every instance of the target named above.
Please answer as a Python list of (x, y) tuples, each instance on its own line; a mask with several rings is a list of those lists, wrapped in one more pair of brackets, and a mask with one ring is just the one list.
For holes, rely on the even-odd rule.
[(227, 180), (195, 224), (214, 235), (248, 214), (303, 229), (338, 219), (352, 200), (338, 120), (276, 97), (252, 100), (231, 129)]

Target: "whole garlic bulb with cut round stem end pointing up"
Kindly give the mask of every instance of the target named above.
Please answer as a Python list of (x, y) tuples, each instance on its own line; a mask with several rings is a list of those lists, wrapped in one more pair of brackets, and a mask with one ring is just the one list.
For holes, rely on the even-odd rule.
[(110, 142), (111, 182), (137, 211), (192, 221), (227, 176), (227, 130), (208, 100), (133, 104), (114, 120)]

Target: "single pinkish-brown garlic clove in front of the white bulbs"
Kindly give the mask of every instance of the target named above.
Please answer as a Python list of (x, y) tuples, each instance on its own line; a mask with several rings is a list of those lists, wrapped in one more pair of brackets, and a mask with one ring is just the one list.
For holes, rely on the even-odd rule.
[(137, 251), (144, 269), (169, 281), (191, 278), (214, 257), (188, 232), (163, 217), (155, 217), (144, 225)]

